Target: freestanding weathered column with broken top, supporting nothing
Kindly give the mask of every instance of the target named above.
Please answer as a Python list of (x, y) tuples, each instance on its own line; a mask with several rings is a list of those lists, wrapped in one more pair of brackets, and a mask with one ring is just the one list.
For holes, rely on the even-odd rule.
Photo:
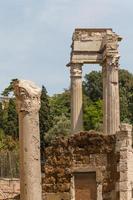
[(20, 197), (42, 200), (39, 109), (41, 90), (30, 81), (14, 83), (19, 113)]

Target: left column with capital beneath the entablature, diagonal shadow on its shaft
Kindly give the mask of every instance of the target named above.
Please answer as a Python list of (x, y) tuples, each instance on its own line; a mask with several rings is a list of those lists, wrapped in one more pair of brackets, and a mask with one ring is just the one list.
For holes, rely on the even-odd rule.
[(82, 111), (82, 64), (71, 64), (71, 130), (77, 133), (83, 129)]

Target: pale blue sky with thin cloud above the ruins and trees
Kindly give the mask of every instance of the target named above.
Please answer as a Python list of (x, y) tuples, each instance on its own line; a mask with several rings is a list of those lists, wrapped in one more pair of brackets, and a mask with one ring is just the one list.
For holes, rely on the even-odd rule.
[(0, 92), (13, 78), (44, 84), (49, 94), (67, 88), (76, 27), (113, 28), (123, 37), (121, 68), (133, 72), (133, 0), (0, 0)]

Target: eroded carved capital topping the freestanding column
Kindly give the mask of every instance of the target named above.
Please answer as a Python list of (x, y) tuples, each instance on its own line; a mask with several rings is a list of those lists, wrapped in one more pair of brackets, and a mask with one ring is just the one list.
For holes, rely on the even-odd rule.
[(41, 89), (33, 82), (17, 80), (14, 82), (14, 92), (18, 112), (38, 112), (40, 109)]

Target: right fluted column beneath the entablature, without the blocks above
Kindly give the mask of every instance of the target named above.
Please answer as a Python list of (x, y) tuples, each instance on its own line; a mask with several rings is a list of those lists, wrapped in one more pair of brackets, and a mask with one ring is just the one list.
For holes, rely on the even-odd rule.
[(118, 64), (108, 58), (103, 66), (104, 133), (115, 134), (120, 129)]

